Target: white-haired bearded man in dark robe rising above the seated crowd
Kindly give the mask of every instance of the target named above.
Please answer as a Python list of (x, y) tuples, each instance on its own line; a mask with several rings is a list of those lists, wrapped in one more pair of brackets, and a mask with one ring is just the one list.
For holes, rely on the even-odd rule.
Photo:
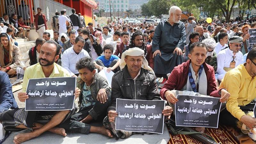
[(186, 44), (186, 28), (180, 18), (181, 9), (172, 6), (169, 18), (159, 22), (153, 37), (154, 71), (157, 77), (164, 77), (163, 83), (167, 80), (166, 74), (183, 62), (182, 50)]

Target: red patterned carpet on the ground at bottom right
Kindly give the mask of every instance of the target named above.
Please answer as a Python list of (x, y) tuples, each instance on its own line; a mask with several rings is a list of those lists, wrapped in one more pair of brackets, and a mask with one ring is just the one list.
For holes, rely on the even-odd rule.
[[(239, 144), (235, 135), (228, 131), (227, 127), (219, 126), (216, 128), (205, 128), (206, 134), (212, 136), (217, 142), (222, 144)], [(201, 141), (192, 138), (189, 135), (171, 135), (168, 144), (203, 144)]]

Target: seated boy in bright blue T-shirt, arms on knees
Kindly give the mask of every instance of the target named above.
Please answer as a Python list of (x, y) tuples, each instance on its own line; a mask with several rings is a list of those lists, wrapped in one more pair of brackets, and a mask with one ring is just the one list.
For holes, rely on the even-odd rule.
[(120, 58), (113, 54), (114, 47), (111, 44), (106, 44), (103, 48), (104, 55), (99, 56), (94, 61), (95, 67), (102, 70), (104, 67), (107, 68), (107, 72), (111, 70), (116, 73), (119, 70)]

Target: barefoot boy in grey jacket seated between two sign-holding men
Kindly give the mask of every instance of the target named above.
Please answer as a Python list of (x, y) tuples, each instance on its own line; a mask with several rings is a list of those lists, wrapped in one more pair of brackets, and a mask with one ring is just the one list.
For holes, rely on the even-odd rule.
[(85, 57), (76, 63), (79, 72), (76, 86), (81, 90), (79, 95), (79, 111), (71, 118), (61, 124), (71, 132), (100, 133), (108, 137), (113, 137), (111, 132), (105, 127), (91, 126), (91, 122), (101, 122), (107, 115), (107, 108), (111, 103), (111, 91), (107, 80), (95, 74), (95, 66), (92, 58)]

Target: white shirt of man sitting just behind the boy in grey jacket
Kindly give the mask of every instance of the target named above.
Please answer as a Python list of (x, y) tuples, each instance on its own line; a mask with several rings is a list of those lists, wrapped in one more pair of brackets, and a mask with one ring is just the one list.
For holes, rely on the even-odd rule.
[(71, 76), (74, 76), (74, 74), (78, 74), (76, 62), (84, 57), (90, 57), (87, 51), (82, 49), (80, 53), (76, 54), (72, 46), (63, 52), (61, 56), (61, 66), (67, 69)]

